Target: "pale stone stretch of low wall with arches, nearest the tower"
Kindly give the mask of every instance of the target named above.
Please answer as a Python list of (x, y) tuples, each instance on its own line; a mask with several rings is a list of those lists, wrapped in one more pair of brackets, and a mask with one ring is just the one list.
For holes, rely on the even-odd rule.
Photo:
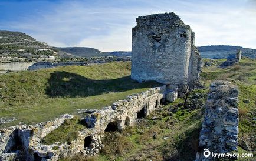
[[(113, 103), (113, 106), (105, 107), (102, 110), (97, 110), (94, 113), (87, 115), (87, 122), (91, 121), (95, 125), (94, 128), (99, 131), (104, 131), (109, 122), (116, 122), (118, 130), (123, 130), (125, 126), (133, 126), (137, 122), (137, 113), (142, 110), (145, 116), (149, 115), (153, 110), (159, 106), (161, 99), (166, 99), (166, 96), (175, 100), (175, 92), (168, 90), (162, 86), (159, 88), (152, 88), (140, 94), (127, 96), (126, 100), (120, 100)], [(93, 119), (90, 119), (93, 118)], [(97, 118), (97, 119), (95, 119)]]

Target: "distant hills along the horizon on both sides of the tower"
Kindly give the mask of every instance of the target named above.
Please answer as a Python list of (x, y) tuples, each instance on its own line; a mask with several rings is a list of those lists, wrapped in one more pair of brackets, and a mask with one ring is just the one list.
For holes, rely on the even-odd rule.
[[(241, 46), (211, 45), (199, 46), (202, 58), (235, 58), (237, 49), (242, 56), (256, 58), (256, 49)], [(101, 56), (131, 56), (132, 52), (114, 51), (101, 52), (99, 49), (88, 47), (51, 47), (45, 42), (39, 42), (22, 32), (0, 31), (0, 56), (17, 56), (23, 58), (38, 58), (41, 55), (55, 55), (61, 58), (71, 57), (101, 57)]]

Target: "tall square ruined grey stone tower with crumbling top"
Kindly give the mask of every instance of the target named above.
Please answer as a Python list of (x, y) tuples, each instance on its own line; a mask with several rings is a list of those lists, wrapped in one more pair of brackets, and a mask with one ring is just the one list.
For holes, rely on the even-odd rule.
[(195, 33), (175, 13), (139, 16), (132, 29), (132, 79), (177, 89), (198, 80), (201, 56)]

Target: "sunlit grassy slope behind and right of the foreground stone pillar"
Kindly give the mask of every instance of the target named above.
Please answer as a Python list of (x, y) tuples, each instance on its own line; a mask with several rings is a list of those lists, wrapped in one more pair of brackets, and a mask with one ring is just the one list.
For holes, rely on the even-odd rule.
[[(220, 62), (219, 62), (220, 63)], [(239, 88), (239, 133), (252, 149), (256, 149), (256, 61), (255, 59), (242, 58), (241, 62), (228, 68), (210, 66), (204, 68), (202, 78), (206, 84), (212, 80), (228, 80)], [(239, 150), (242, 150), (239, 148)]]

